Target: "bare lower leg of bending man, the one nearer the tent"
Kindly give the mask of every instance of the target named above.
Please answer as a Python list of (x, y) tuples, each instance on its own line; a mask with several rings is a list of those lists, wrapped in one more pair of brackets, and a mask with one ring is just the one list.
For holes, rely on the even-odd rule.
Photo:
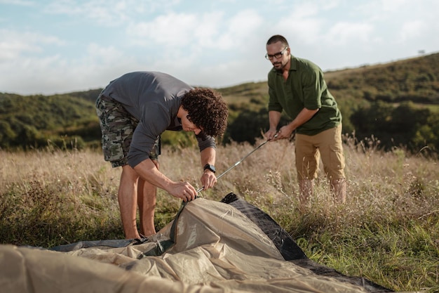
[(140, 233), (151, 236), (156, 233), (154, 210), (156, 209), (157, 188), (155, 185), (139, 179), (137, 187), (137, 204), (140, 213)]

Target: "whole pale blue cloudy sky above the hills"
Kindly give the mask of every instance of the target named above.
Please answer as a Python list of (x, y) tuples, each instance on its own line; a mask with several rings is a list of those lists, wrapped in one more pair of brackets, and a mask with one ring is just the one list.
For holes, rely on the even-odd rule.
[(436, 0), (0, 0), (0, 92), (68, 93), (137, 70), (262, 82), (266, 40), (324, 71), (439, 51)]

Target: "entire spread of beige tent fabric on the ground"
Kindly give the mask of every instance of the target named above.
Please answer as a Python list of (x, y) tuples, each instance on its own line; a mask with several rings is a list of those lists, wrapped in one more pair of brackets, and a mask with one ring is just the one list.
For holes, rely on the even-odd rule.
[(198, 198), (140, 245), (72, 252), (0, 245), (2, 292), (367, 292), (285, 261), (273, 242), (230, 204)]

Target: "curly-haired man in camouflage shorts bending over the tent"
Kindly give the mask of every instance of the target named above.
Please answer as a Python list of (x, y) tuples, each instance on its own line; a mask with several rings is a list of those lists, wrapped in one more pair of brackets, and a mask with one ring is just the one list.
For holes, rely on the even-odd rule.
[(184, 202), (196, 198), (196, 189), (190, 183), (175, 182), (159, 171), (163, 131), (194, 132), (201, 154), (201, 184), (208, 189), (217, 183), (214, 137), (224, 134), (228, 116), (219, 93), (194, 89), (161, 72), (130, 72), (105, 87), (96, 100), (96, 112), (104, 159), (112, 167), (122, 167), (118, 200), (126, 239), (156, 233), (157, 187)]

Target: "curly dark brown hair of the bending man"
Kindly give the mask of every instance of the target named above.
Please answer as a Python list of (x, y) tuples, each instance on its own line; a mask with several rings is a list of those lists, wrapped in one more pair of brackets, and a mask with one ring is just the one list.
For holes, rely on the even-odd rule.
[(229, 110), (220, 93), (206, 88), (191, 89), (184, 94), (182, 107), (204, 134), (222, 136), (226, 131)]

